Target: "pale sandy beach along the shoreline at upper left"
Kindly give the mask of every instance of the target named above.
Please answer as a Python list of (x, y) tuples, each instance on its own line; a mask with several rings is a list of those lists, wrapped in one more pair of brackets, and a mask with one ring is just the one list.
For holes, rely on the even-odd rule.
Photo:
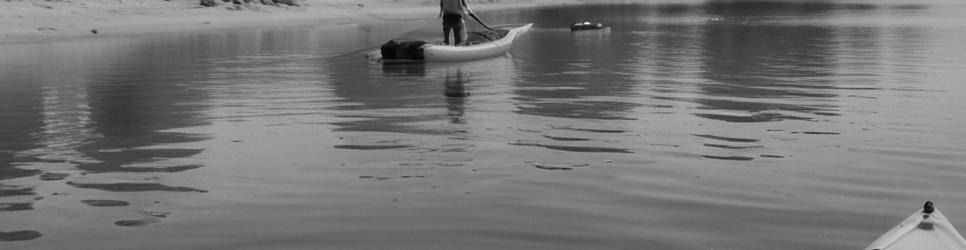
[[(197, 0), (5, 0), (0, 4), (0, 42), (64, 37), (142, 34), (233, 27), (338, 25), (435, 18), (431, 0), (306, 0), (301, 6), (234, 5)], [(477, 11), (566, 5), (582, 0), (472, 0)], [(596, 1), (602, 2), (602, 1)]]

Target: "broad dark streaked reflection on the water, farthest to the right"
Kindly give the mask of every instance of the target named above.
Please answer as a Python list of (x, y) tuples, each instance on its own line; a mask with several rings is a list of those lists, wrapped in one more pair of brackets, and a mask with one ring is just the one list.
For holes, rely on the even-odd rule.
[[(712, 8), (714, 19), (701, 31), (702, 74), (710, 82), (699, 86), (701, 98), (696, 116), (725, 122), (714, 133), (719, 136), (749, 137), (755, 143), (710, 140), (709, 159), (753, 160), (784, 157), (763, 153), (770, 148), (757, 142), (767, 134), (749, 133), (744, 123), (814, 121), (822, 116), (837, 116), (838, 95), (834, 82), (834, 62), (829, 55), (834, 39), (831, 27), (775, 26), (755, 8)], [(779, 6), (781, 7), (781, 6)], [(785, 11), (814, 11), (810, 8), (763, 8)], [(790, 9), (790, 10), (786, 10)], [(768, 12), (772, 13), (772, 12)], [(735, 19), (740, 21), (734, 21)], [(760, 22), (766, 22), (762, 24)], [(732, 128), (734, 127), (734, 128)], [(772, 128), (772, 132), (780, 128)], [(824, 132), (824, 131), (823, 131)], [(707, 138), (707, 137), (706, 137)], [(755, 154), (758, 155), (755, 155)]]

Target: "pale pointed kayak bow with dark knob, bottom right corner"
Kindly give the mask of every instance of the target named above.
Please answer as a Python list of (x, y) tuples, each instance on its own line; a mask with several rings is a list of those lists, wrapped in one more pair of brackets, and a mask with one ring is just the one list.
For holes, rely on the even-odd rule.
[(926, 202), (923, 209), (912, 213), (866, 248), (893, 249), (966, 250), (966, 240), (932, 202)]

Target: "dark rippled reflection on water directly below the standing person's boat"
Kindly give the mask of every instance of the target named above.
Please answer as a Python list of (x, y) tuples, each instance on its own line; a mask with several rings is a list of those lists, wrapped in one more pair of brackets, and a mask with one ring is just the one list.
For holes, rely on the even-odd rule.
[[(345, 105), (336, 110), (350, 118), (336, 131), (459, 134), (458, 127), (422, 126), (451, 119), (461, 124), (463, 108), (474, 85), (506, 85), (515, 75), (513, 60), (497, 57), (453, 65), (421, 63), (337, 62), (328, 64), (332, 86)], [(442, 94), (441, 94), (442, 93)], [(432, 112), (446, 107), (448, 112)], [(407, 115), (410, 114), (410, 115)]]

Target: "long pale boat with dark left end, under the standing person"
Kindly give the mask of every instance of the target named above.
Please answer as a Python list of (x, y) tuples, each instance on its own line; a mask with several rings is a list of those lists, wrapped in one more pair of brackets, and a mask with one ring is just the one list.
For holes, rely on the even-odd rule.
[[(430, 44), (424, 41), (389, 41), (372, 59), (391, 61), (462, 62), (474, 61), (506, 54), (513, 40), (533, 27), (532, 23), (493, 27), (497, 32), (474, 32), (466, 46)], [(378, 58), (374, 58), (378, 57)]]

